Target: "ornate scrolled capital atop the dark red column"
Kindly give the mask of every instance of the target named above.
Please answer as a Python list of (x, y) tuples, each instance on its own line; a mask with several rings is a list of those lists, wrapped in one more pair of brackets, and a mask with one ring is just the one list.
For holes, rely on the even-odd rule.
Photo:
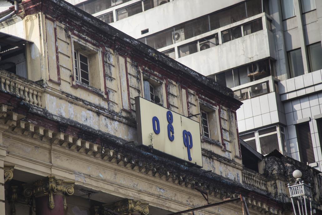
[(74, 181), (64, 181), (62, 179), (56, 179), (55, 176), (48, 176), (43, 180), (25, 184), (24, 196), (27, 198), (48, 196), (48, 207), (52, 210), (55, 207), (53, 196), (61, 195), (64, 198), (64, 209), (66, 209), (67, 203), (65, 195), (72, 195), (74, 193), (74, 183)]

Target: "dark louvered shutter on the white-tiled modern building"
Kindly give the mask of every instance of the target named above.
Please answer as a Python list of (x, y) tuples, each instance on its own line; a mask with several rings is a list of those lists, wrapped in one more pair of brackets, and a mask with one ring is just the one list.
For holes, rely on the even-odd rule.
[(297, 125), (296, 127), (298, 132), (298, 142), (300, 147), (300, 153), (302, 155), (302, 158), (301, 158), (302, 162), (304, 163), (315, 162), (309, 123), (305, 122)]

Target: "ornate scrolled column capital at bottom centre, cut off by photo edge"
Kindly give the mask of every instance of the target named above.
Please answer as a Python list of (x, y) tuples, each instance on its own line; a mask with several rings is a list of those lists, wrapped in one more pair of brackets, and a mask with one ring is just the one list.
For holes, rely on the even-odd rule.
[[(125, 199), (115, 202), (113, 205), (104, 207), (112, 209), (122, 215), (147, 215), (149, 213), (149, 204), (132, 199)], [(106, 214), (110, 214), (107, 212)]]

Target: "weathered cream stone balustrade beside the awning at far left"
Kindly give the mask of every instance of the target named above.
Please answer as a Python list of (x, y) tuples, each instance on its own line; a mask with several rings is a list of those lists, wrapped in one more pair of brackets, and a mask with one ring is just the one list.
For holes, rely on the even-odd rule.
[(0, 70), (0, 91), (22, 98), (25, 102), (42, 107), (42, 88), (18, 75)]

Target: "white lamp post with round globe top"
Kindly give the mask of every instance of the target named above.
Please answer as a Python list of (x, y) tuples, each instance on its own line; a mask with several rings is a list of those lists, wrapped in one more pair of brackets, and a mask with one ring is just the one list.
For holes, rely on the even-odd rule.
[(301, 179), (302, 172), (295, 170), (293, 172), (293, 177), (295, 178), (295, 183), (293, 185), (287, 184), (289, 188), (289, 195), (292, 201), (294, 214), (296, 214), (296, 203), (299, 215), (308, 215), (308, 204), (310, 215), (312, 215), (312, 195), (311, 195), (311, 184), (305, 184)]

